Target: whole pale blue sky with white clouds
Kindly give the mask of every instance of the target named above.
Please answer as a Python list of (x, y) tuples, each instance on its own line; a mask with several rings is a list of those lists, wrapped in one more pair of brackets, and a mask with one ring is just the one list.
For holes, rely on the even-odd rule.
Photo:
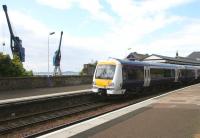
[[(50, 71), (60, 32), (61, 70), (130, 52), (188, 56), (200, 51), (200, 0), (1, 0), (14, 34), (26, 50), (24, 67)], [(55, 32), (49, 36), (50, 32)], [(0, 52), (11, 55), (9, 30), (0, 10)], [(3, 48), (2, 43), (5, 42)]]

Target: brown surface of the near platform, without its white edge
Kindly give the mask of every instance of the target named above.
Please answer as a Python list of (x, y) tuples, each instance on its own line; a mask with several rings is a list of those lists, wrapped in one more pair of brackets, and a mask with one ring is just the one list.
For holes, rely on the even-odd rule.
[(200, 138), (200, 84), (158, 98), (154, 104), (76, 137)]

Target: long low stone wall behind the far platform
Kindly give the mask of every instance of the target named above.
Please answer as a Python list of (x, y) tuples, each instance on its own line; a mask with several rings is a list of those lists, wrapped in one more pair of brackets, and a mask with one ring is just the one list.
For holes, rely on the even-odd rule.
[(0, 91), (92, 84), (92, 76), (0, 78)]

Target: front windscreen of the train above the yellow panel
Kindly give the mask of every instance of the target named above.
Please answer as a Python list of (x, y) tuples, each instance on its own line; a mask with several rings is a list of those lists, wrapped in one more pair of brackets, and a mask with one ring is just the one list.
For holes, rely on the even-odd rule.
[(113, 79), (115, 74), (115, 65), (98, 65), (95, 78), (96, 79)]

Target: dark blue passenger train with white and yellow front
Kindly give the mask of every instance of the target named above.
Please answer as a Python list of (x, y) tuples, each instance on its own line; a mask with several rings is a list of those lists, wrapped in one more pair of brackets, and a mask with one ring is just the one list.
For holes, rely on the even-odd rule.
[(92, 92), (124, 95), (156, 86), (187, 84), (200, 80), (200, 66), (108, 59), (97, 63)]

